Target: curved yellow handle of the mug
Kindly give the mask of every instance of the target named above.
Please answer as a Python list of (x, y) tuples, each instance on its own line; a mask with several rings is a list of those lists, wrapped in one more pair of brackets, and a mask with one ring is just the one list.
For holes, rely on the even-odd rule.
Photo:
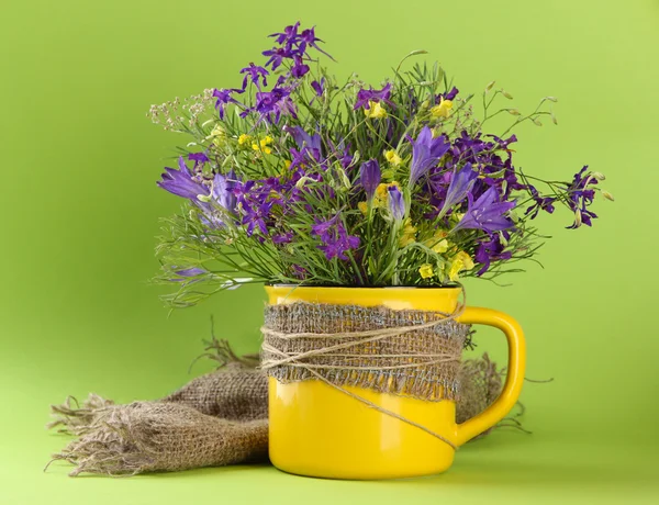
[(509, 363), (505, 384), (499, 397), (488, 408), (457, 426), (457, 445), (471, 440), (493, 427), (515, 406), (526, 368), (526, 343), (520, 324), (503, 312), (482, 307), (466, 307), (457, 321), (463, 324), (483, 324), (501, 329), (509, 346)]

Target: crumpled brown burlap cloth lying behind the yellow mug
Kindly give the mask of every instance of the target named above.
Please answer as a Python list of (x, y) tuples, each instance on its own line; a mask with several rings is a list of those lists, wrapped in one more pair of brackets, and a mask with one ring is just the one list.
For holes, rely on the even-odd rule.
[[(81, 405), (71, 397), (53, 405), (48, 427), (76, 437), (53, 461), (74, 464), (71, 476), (267, 462), (266, 374), (254, 369), (254, 357), (237, 358), (225, 341), (213, 339), (206, 350), (220, 368), (159, 401), (115, 405), (90, 394)], [(485, 355), (465, 361), (459, 377), (456, 417), (461, 423), (499, 396), (501, 372)], [(469, 397), (474, 394), (479, 399)]]

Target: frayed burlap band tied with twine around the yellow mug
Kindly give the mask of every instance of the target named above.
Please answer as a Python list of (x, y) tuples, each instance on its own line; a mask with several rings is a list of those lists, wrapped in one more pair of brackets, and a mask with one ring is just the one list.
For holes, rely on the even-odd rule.
[(384, 306), (268, 305), (261, 369), (282, 383), (317, 379), (425, 401), (456, 400), (470, 327), (454, 317)]

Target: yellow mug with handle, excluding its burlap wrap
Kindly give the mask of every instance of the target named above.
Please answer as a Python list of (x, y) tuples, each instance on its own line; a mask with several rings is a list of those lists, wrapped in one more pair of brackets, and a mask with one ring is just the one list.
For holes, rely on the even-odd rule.
[[(266, 287), (269, 303), (294, 302), (384, 305), (393, 310), (453, 313), (460, 289)], [(376, 405), (411, 419), (461, 446), (494, 426), (515, 405), (524, 381), (525, 343), (511, 316), (490, 308), (467, 307), (458, 322), (501, 329), (509, 344), (505, 385), (484, 412), (456, 424), (455, 402), (343, 386)], [(454, 449), (445, 441), (322, 381), (282, 384), (269, 378), (270, 460), (280, 470), (330, 479), (398, 479), (447, 470)]]

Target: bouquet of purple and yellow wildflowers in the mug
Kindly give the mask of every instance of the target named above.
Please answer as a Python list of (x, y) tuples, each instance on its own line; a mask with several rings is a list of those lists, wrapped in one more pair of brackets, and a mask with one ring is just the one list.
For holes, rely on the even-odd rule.
[[(248, 282), (443, 287), (492, 279), (534, 256), (540, 212), (569, 209), (569, 228), (591, 226), (601, 173), (583, 167), (545, 181), (513, 166), (513, 127), (541, 125), (552, 97), (529, 114), (490, 83), (472, 100), (437, 64), (378, 87), (338, 81), (314, 29), (271, 35), (264, 66), (242, 83), (149, 112), (191, 136), (158, 186), (185, 199), (166, 220), (159, 280), (187, 306)], [(239, 81), (238, 81), (239, 82)], [(482, 98), (482, 103), (481, 103)], [(476, 102), (476, 103), (474, 103)], [(477, 115), (478, 111), (478, 115)], [(485, 124), (510, 114), (496, 134)]]

